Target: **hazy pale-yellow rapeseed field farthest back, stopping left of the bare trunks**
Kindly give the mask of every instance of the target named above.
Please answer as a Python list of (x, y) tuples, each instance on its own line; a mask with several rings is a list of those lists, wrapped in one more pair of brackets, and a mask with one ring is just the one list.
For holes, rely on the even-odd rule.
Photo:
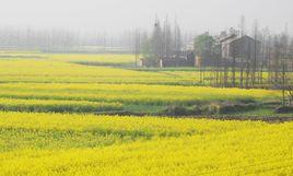
[[(1, 55), (0, 55), (1, 56)], [(110, 67), (91, 67), (74, 63), (75, 57), (69, 55), (42, 55), (40, 58), (1, 58), (0, 82), (61, 82), (61, 83), (143, 83), (143, 84), (192, 84), (198, 81), (194, 74), (174, 77), (160, 72), (143, 72)], [(33, 57), (33, 56), (32, 56)], [(73, 58), (72, 58), (73, 57)], [(80, 56), (83, 58), (84, 56)], [(102, 60), (102, 63), (124, 63), (131, 56), (124, 56), (113, 61), (113, 56), (84, 57), (84, 61)], [(67, 60), (69, 59), (69, 60)], [(73, 60), (71, 62), (71, 59)], [(125, 61), (126, 60), (126, 61)]]

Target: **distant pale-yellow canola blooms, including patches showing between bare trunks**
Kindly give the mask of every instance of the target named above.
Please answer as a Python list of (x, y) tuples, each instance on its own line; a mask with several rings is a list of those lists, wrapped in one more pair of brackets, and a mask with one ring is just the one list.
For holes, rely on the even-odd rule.
[[(59, 82), (59, 83), (128, 83), (128, 84), (200, 84), (200, 72), (184, 70), (130, 70), (113, 66), (133, 66), (132, 55), (56, 55), (42, 52), (4, 52), (0, 56), (1, 82)], [(5, 58), (5, 56), (12, 56)], [(83, 63), (83, 64), (80, 64)], [(91, 67), (109, 66), (109, 67)], [(213, 81), (207, 71), (206, 82)], [(228, 73), (231, 78), (232, 72)], [(289, 77), (293, 77), (293, 73)], [(236, 73), (238, 81), (239, 73)], [(263, 73), (263, 82), (268, 73)]]

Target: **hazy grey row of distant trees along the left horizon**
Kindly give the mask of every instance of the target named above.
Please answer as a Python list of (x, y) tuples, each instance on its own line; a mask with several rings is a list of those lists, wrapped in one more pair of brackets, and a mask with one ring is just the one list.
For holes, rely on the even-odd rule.
[(70, 30), (0, 28), (0, 48), (39, 49), (45, 51), (78, 51), (82, 48), (119, 48), (133, 50), (133, 32), (120, 34), (99, 32), (73, 32)]

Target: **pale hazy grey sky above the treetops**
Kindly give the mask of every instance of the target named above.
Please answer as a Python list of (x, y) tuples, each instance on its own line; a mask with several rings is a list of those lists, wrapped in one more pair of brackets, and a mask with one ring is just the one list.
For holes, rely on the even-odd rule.
[(189, 32), (218, 32), (237, 26), (242, 14), (247, 30), (255, 19), (280, 32), (293, 30), (293, 0), (0, 0), (0, 26), (62, 27), (119, 32), (152, 27), (155, 14), (177, 16)]

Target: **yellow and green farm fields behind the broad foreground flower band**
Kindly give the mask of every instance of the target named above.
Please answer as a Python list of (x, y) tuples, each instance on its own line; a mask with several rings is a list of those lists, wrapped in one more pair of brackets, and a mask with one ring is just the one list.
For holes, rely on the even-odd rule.
[[(185, 106), (188, 112), (191, 110), (188, 114), (194, 114), (198, 104), (204, 104), (200, 108), (206, 110), (213, 108), (206, 107), (211, 103), (253, 103), (254, 106), (262, 106), (259, 104), (278, 103), (281, 98), (281, 92), (278, 91), (195, 86), (200, 85), (200, 73), (190, 68), (138, 70), (121, 67), (133, 64), (131, 55), (14, 51), (1, 52), (0, 58), (0, 98), (4, 99), (0, 99), (2, 110), (70, 113), (71, 109), (72, 113), (103, 114), (122, 110), (160, 115), (165, 114), (167, 106), (176, 105)], [(15, 104), (20, 104), (17, 99), (23, 103), (26, 101), (24, 104), (27, 105), (19, 108), (19, 105), (13, 105), (14, 99)], [(83, 101), (86, 108), (78, 101)], [(90, 104), (93, 103), (99, 103), (96, 109), (91, 108)], [(112, 108), (104, 108), (102, 104), (105, 103), (110, 103)], [(68, 109), (52, 107), (61, 104)], [(113, 104), (117, 107), (113, 107)], [(273, 116), (273, 110), (269, 115)]]

